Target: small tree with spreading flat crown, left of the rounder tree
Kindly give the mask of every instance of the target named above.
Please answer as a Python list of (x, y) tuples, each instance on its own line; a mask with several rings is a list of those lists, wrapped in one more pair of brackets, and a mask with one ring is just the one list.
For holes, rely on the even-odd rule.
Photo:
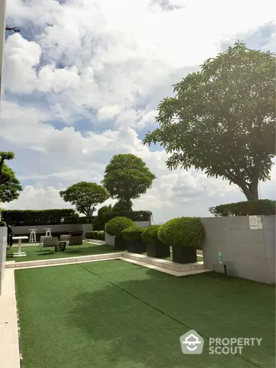
[(59, 195), (65, 202), (73, 204), (79, 213), (83, 213), (90, 219), (96, 206), (108, 199), (108, 192), (103, 186), (90, 182), (73, 184), (66, 191), (60, 191)]

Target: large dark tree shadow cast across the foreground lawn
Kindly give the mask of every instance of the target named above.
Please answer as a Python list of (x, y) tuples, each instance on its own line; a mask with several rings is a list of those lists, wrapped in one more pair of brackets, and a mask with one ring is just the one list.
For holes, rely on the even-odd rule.
[[(99, 352), (93, 366), (275, 367), (272, 287), (213, 272), (175, 278), (144, 267), (132, 272), (79, 267), (101, 284), (100, 290), (79, 293), (68, 316)], [(263, 345), (245, 347), (242, 357), (213, 356), (207, 348), (200, 356), (184, 355), (179, 336), (189, 329), (204, 338), (262, 337)]]

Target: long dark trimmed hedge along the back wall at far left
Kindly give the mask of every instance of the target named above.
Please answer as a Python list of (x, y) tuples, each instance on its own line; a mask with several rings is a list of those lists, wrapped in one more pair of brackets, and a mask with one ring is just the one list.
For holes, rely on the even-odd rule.
[(79, 219), (74, 209), (4, 210), (1, 217), (13, 226), (77, 224)]

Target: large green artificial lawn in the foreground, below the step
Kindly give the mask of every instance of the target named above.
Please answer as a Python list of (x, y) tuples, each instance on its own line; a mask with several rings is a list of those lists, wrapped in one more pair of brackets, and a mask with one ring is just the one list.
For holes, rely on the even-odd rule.
[[(22, 368), (274, 368), (275, 292), (219, 273), (123, 260), (15, 271)], [(184, 355), (179, 336), (263, 338), (242, 356)], [(205, 345), (208, 345), (206, 340)]]

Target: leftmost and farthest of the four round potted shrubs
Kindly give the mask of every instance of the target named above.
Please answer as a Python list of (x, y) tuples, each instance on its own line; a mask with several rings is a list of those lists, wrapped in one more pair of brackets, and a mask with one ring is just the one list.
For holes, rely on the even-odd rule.
[(106, 232), (115, 236), (114, 249), (126, 249), (126, 243), (121, 238), (121, 232), (130, 226), (135, 226), (135, 222), (128, 217), (114, 217), (106, 223)]

